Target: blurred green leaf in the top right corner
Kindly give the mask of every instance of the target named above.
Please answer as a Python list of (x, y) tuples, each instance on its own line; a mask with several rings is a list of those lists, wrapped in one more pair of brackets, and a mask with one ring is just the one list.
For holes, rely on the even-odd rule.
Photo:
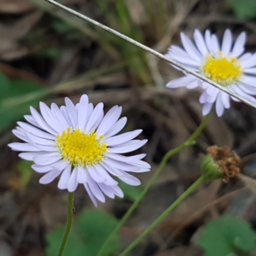
[(228, 0), (237, 18), (251, 19), (256, 17), (255, 0)]

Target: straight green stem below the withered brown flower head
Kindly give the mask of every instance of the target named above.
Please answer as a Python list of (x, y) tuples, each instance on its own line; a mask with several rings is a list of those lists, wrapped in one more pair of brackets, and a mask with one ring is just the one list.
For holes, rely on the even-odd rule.
[(134, 240), (119, 256), (125, 256), (127, 253), (139, 244), (154, 228), (156, 228), (181, 202), (183, 202), (198, 186), (205, 181), (205, 177), (201, 176), (197, 179), (177, 200), (173, 202), (136, 240)]

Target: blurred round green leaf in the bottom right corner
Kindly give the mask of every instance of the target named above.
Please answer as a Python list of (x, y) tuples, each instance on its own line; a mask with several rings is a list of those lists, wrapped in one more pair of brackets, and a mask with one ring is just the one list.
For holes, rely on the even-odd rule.
[(233, 216), (210, 221), (200, 236), (205, 256), (236, 256), (255, 248), (256, 236), (250, 225)]

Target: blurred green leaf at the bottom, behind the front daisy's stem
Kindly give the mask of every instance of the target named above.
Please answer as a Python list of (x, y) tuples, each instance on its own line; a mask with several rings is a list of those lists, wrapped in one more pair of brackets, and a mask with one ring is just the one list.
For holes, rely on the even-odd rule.
[[(68, 237), (63, 256), (97, 255), (102, 244), (116, 227), (117, 221), (106, 212), (93, 209), (84, 211), (76, 221)], [(56, 256), (64, 234), (64, 227), (57, 228), (47, 235), (47, 256)], [(116, 252), (120, 246), (119, 236), (109, 243), (105, 255)]]

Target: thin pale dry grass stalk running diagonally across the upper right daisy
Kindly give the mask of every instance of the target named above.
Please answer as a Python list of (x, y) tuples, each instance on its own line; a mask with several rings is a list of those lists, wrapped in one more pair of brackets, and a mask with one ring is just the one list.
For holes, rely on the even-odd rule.
[(208, 79), (207, 77), (201, 76), (197, 72), (194, 72), (193, 70), (190, 70), (189, 68), (184, 67), (182, 64), (177, 63), (176, 61), (173, 61), (173, 60), (170, 60), (170, 59), (166, 58), (166, 56), (164, 56), (163, 54), (161, 54), (161, 53), (159, 53), (157, 51), (154, 51), (153, 49), (151, 49), (151, 48), (149, 48), (149, 47), (147, 47), (147, 46), (145, 46), (143, 44), (140, 44), (139, 42), (133, 40), (132, 38), (130, 38), (128, 36), (125, 36), (122, 33), (119, 33), (118, 31), (115, 31), (114, 29), (111, 29), (111, 28), (109, 28), (109, 27), (107, 27), (105, 25), (102, 25), (99, 22), (97, 22), (97, 21), (95, 21), (93, 19), (90, 19), (87, 16), (84, 16), (81, 13), (78, 13), (78, 12), (68, 8), (67, 6), (64, 6), (64, 5), (60, 4), (60, 3), (57, 3), (54, 0), (45, 0), (45, 1), (47, 1), (47, 2), (49, 2), (51, 4), (54, 4), (55, 6), (58, 6), (58, 7), (62, 8), (62, 9), (64, 9), (64, 10), (66, 10), (67, 12), (70, 12), (70, 13), (76, 15), (77, 17), (79, 17), (79, 18), (81, 18), (83, 20), (87, 20), (88, 22), (91, 22), (92, 24), (94, 24), (94, 25), (96, 25), (96, 26), (98, 26), (98, 27), (108, 31), (109, 33), (112, 33), (112, 34), (114, 34), (116, 36), (119, 36), (120, 38), (123, 38), (124, 40), (130, 42), (131, 44), (134, 44), (134, 45), (140, 47), (141, 49), (156, 55), (157, 57), (161, 58), (162, 60), (167, 61), (168, 63), (172, 64), (173, 66), (180, 68), (181, 70), (185, 71), (186, 73), (191, 74), (192, 76), (195, 76), (195, 77), (197, 77), (197, 78), (199, 78), (199, 79), (201, 79), (201, 80), (203, 80), (203, 81), (205, 81), (205, 82), (215, 86), (216, 88), (220, 89), (221, 91), (228, 93), (229, 95), (235, 97), (236, 99), (239, 99), (239, 100), (243, 101), (247, 105), (249, 105), (249, 106), (251, 106), (253, 108), (256, 108), (255, 104), (253, 104), (252, 102), (244, 99), (240, 95), (237, 95), (236, 93), (230, 92), (226, 87), (223, 87), (223, 86), (221, 86), (218, 83), (215, 83), (214, 81)]

